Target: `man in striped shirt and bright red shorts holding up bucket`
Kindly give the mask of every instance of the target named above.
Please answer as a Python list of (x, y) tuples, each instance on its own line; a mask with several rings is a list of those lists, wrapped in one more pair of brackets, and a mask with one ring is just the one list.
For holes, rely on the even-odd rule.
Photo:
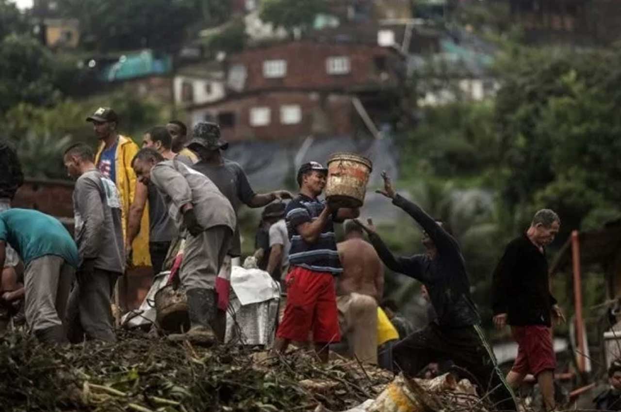
[(312, 332), (315, 352), (328, 361), (329, 344), (340, 341), (334, 277), (343, 269), (338, 258), (333, 223), (356, 218), (358, 209), (317, 199), (324, 190), (327, 169), (317, 162), (302, 164), (297, 172), (300, 194), (286, 209), (291, 240), (285, 279), (287, 305), (278, 327), (274, 350), (286, 351), (291, 341), (305, 342)]

